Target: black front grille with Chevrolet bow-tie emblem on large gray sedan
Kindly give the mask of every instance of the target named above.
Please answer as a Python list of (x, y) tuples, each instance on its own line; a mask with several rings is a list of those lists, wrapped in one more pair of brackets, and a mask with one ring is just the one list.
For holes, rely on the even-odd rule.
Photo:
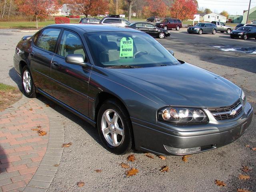
[[(219, 107), (219, 108), (208, 108), (217, 120), (229, 120), (234, 119), (242, 113), (242, 104), (240, 100), (235, 102), (231, 106)], [(236, 114), (232, 114), (232, 110), (236, 110)]]

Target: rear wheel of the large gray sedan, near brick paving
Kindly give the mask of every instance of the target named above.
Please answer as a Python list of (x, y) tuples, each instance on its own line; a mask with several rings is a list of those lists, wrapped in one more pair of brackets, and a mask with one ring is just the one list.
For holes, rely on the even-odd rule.
[(22, 68), (21, 78), (22, 78), (22, 90), (24, 95), (28, 98), (35, 98), (36, 87), (34, 85), (31, 72), (28, 66), (24, 66)]

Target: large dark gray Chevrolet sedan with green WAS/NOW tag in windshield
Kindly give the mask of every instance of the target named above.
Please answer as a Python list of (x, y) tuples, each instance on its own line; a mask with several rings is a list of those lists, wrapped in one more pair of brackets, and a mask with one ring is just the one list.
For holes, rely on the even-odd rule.
[(241, 88), (131, 28), (50, 25), (22, 38), (14, 67), (25, 96), (42, 94), (92, 124), (114, 154), (204, 152), (252, 120)]

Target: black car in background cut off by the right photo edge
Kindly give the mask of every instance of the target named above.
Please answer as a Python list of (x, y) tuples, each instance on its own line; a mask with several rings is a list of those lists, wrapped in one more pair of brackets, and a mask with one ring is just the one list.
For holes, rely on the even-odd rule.
[(243, 26), (238, 28), (237, 30), (233, 30), (230, 32), (230, 38), (240, 38), (240, 39), (248, 39), (255, 38), (256, 39), (256, 27)]

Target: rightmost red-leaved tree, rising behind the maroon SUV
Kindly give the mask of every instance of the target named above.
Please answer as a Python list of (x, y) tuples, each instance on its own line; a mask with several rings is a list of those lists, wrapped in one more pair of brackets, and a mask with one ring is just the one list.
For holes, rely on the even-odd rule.
[(170, 13), (172, 18), (178, 18), (180, 20), (184, 19), (194, 19), (194, 14), (197, 13), (198, 3), (196, 0), (176, 0), (172, 4)]

